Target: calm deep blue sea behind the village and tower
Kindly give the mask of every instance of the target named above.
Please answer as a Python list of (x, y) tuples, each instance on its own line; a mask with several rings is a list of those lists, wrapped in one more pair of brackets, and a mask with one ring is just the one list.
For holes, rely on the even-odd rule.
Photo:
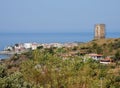
[[(120, 32), (109, 32), (107, 38), (120, 38)], [(93, 40), (93, 32), (79, 33), (0, 33), (0, 51), (7, 46), (16, 43), (66, 43), (66, 42), (89, 42)], [(1, 58), (7, 56), (0, 55)]]

